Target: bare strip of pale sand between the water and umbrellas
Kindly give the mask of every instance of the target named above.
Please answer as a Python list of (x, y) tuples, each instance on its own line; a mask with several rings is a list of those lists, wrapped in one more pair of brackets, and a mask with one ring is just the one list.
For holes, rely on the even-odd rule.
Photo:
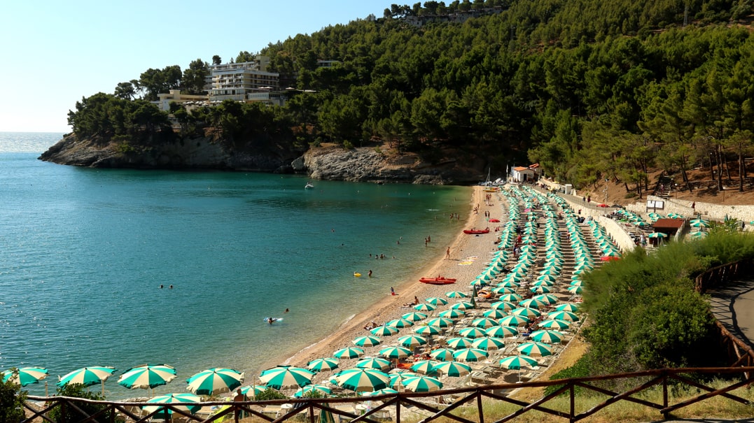
[[(486, 222), (484, 213), (482, 213), (483, 211), (489, 211), (492, 217), (500, 217), (500, 205), (495, 202), (495, 199), (492, 202), (485, 202), (483, 194), (483, 187), (473, 187), (468, 202), (468, 214), (465, 218), (466, 227), (488, 226), (489, 224)], [(475, 214), (474, 205), (477, 204), (480, 205), (479, 213)], [(367, 330), (364, 330), (364, 327), (369, 322), (375, 321), (378, 324), (382, 324), (383, 322), (400, 318), (400, 315), (406, 314), (406, 312), (413, 311), (412, 308), (403, 307), (403, 304), (411, 302), (414, 297), (418, 297), (420, 301), (423, 301), (427, 297), (446, 298), (446, 291), (470, 291), (469, 282), (479, 275), (484, 264), (489, 261), (486, 260), (489, 257), (489, 253), (495, 249), (493, 241), (496, 239), (496, 234), (491, 232), (486, 234), (486, 236), (469, 236), (459, 232), (458, 236), (449, 245), (451, 250), (450, 260), (447, 260), (443, 254), (443, 257), (438, 257), (436, 261), (421, 267), (421, 269), (418, 269), (413, 274), (412, 278), (400, 281), (399, 284), (394, 285), (397, 295), (387, 295), (385, 298), (372, 304), (369, 309), (350, 316), (333, 333), (302, 348), (287, 358), (283, 364), (306, 367), (308, 362), (315, 358), (332, 357), (333, 351), (353, 346), (351, 342), (353, 339), (369, 334)], [(440, 251), (445, 251), (445, 248), (441, 248)], [(461, 260), (467, 257), (478, 258), (468, 265), (459, 265)], [(443, 275), (449, 278), (458, 278), (458, 281), (454, 285), (422, 284), (418, 281), (418, 278), (425, 275)], [(410, 333), (410, 330), (403, 330), (403, 333), (400, 334), (405, 335), (407, 333)], [(397, 336), (385, 337), (383, 339), (385, 341), (384, 344), (364, 348), (367, 351), (366, 355), (376, 355), (377, 350), (384, 348), (385, 345), (388, 345), (396, 338)], [(348, 368), (348, 365), (343, 365), (346, 361), (342, 360), (341, 369)]]

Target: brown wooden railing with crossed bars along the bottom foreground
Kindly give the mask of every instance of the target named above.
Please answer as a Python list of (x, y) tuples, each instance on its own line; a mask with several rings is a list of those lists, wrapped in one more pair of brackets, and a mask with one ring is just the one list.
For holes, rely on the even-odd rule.
[[(360, 421), (378, 423), (379, 421), (388, 420), (399, 422), (402, 421), (401, 415), (406, 412), (406, 409), (422, 410), (425, 418), (421, 419), (421, 423), (428, 423), (437, 418), (452, 419), (460, 421), (461, 423), (484, 423), (486, 418), (492, 418), (496, 422), (501, 423), (504, 421), (510, 421), (511, 419), (531, 410), (538, 410), (549, 415), (567, 419), (568, 421), (579, 421), (599, 412), (601, 409), (605, 409), (605, 407), (610, 406), (613, 403), (628, 401), (657, 410), (660, 415), (667, 418), (670, 412), (675, 412), (676, 410), (683, 409), (684, 407), (691, 406), (691, 404), (698, 403), (711, 397), (725, 397), (738, 403), (749, 404), (750, 401), (748, 399), (732, 394), (731, 391), (752, 384), (754, 379), (746, 376), (752, 374), (752, 370), (754, 370), (754, 367), (659, 369), (608, 376), (486, 385), (431, 393), (402, 392), (398, 394), (375, 395), (373, 397), (304, 398), (296, 400), (206, 402), (198, 404), (204, 407), (219, 406), (219, 410), (222, 410), (216, 412), (216, 414), (207, 416), (198, 416), (183, 412), (176, 409), (176, 405), (179, 405), (176, 403), (164, 404), (164, 408), (173, 410), (173, 420), (185, 421), (186, 423), (211, 423), (213, 421), (229, 421), (231, 418), (234, 419), (235, 423), (238, 423), (239, 421), (247, 421), (246, 419), (249, 417), (251, 417), (250, 420), (259, 421), (258, 419), (262, 419), (262, 421), (272, 421), (274, 423), (291, 421), (293, 419), (315, 423), (316, 421), (319, 421), (320, 413), (322, 412), (331, 412), (333, 415), (338, 415), (339, 420), (341, 421), (345, 418), (354, 423)], [(713, 388), (695, 381), (688, 376), (691, 374), (705, 376), (725, 375), (725, 380), (728, 381), (726, 382), (728, 385), (725, 386), (725, 388)], [(740, 376), (733, 377), (735, 375)], [(608, 388), (600, 386), (625, 386), (631, 384), (633, 384), (633, 387), (625, 388), (621, 392), (611, 391)], [(697, 388), (699, 391), (703, 391), (703, 393), (691, 396), (685, 400), (679, 400), (676, 403), (671, 403), (670, 395), (668, 394), (669, 388), (679, 384)], [(527, 388), (541, 387), (556, 388), (551, 394), (547, 394), (539, 400), (535, 400), (531, 403), (508, 397), (506, 394), (513, 389), (526, 390)], [(597, 393), (603, 398), (606, 396), (606, 398), (602, 400), (602, 403), (590, 406), (588, 409), (578, 409), (579, 407), (577, 406), (576, 397), (577, 388), (580, 388), (581, 391)], [(650, 395), (640, 395), (642, 392), (650, 389), (659, 388), (662, 389), (662, 399), (659, 402), (654, 402), (653, 400), (648, 399), (651, 397)], [(584, 393), (581, 393), (579, 395), (583, 394)], [(562, 396), (568, 397), (569, 401), (567, 406), (557, 406), (549, 403), (556, 399), (556, 397)], [(441, 405), (440, 399), (446, 397), (452, 397), (454, 400), (452, 400), (452, 403)], [(162, 412), (162, 409), (150, 412), (149, 414), (142, 414), (134, 411), (141, 409), (142, 406), (154, 406), (155, 403), (93, 401), (72, 397), (33, 396), (29, 396), (28, 400), (29, 401), (26, 403), (26, 409), (28, 409), (27, 417), (21, 423), (32, 423), (32, 421), (47, 421), (48, 423), (117, 423), (118, 421), (146, 423), (148, 421), (153, 421), (155, 415)], [(353, 408), (351, 408), (351, 411), (344, 410), (344, 406), (352, 407), (355, 403), (363, 403), (365, 400), (372, 400), (374, 406), (371, 409), (364, 409), (363, 414), (356, 412)], [(513, 404), (513, 411), (508, 412), (507, 415), (486, 416), (483, 410), (483, 400), (486, 400), (485, 402)], [(292, 403), (292, 401), (295, 402)], [(375, 405), (378, 401), (381, 401), (382, 403)], [(34, 403), (40, 402), (44, 402), (44, 406), (38, 407), (33, 405)], [(583, 404), (583, 402), (580, 403)], [(289, 405), (284, 406), (284, 404)], [(87, 415), (81, 411), (84, 406), (93, 405), (100, 406), (100, 411), (93, 415)], [(458, 413), (454, 413), (462, 406), (472, 407), (470, 410), (471, 412), (466, 412), (464, 415), (473, 415), (474, 420), (462, 417), (461, 415), (458, 415)], [(581, 406), (581, 408), (586, 407), (587, 406)], [(49, 417), (49, 413), (56, 408), (77, 410), (78, 413), (82, 415), (82, 418), (78, 419), (76, 422), (54, 421)], [(385, 415), (388, 408), (391, 409), (391, 412), (388, 415)], [(269, 409), (275, 409), (277, 412), (274, 414), (268, 413), (267, 410)], [(490, 412), (490, 414), (492, 413)]]

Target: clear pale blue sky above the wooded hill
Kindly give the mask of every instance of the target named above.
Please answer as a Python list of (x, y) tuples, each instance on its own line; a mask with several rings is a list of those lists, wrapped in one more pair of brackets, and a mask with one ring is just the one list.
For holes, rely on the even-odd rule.
[[(403, 3), (401, 3), (403, 4)], [(41, 0), (4, 2), (0, 132), (69, 132), (82, 96), (112, 93), (148, 68), (241, 50), (382, 17), (388, 0)]]

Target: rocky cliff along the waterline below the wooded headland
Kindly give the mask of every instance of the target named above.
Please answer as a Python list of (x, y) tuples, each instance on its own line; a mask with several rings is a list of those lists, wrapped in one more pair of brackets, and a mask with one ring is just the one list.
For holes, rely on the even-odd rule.
[(457, 159), (429, 162), (417, 154), (385, 154), (377, 148), (346, 150), (335, 146), (311, 148), (303, 154), (285, 148), (240, 152), (208, 137), (130, 145), (69, 135), (39, 159), (100, 168), (297, 172), (313, 179), (376, 183), (467, 184), (483, 179), (479, 171), (483, 163), (464, 166)]

